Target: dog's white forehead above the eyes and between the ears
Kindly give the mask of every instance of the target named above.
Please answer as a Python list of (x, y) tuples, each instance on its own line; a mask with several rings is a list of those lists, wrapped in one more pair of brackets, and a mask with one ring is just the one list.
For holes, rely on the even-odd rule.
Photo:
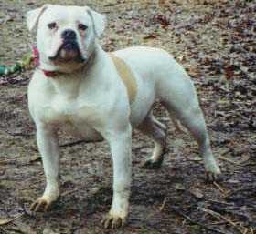
[(41, 16), (41, 22), (59, 22), (65, 25), (83, 22), (91, 25), (91, 16), (85, 6), (50, 5)]

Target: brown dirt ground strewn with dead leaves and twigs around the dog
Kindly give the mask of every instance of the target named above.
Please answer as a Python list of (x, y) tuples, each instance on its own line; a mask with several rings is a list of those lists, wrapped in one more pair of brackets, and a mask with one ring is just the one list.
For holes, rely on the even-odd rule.
[[(28, 9), (43, 3), (84, 1), (0, 0), (0, 65), (29, 53)], [(86, 1), (108, 17), (101, 39), (112, 51), (125, 46), (165, 48), (197, 86), (222, 179), (205, 181), (197, 144), (178, 133), (167, 113), (168, 153), (159, 170), (144, 170), (153, 143), (133, 134), (131, 209), (123, 229), (102, 229), (112, 200), (112, 162), (106, 143), (69, 144), (60, 137), (59, 201), (45, 214), (29, 205), (45, 186), (35, 127), (27, 110), (32, 74), (0, 77), (0, 233), (256, 233), (256, 2)]]

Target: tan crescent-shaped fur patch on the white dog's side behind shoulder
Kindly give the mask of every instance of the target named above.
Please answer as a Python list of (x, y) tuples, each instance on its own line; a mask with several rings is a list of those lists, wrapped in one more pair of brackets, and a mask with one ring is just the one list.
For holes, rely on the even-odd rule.
[(130, 104), (132, 104), (137, 93), (137, 84), (135, 77), (133, 76), (130, 67), (127, 66), (127, 64), (123, 61), (122, 58), (114, 56), (112, 53), (110, 53), (110, 56), (112, 58), (112, 61), (116, 67), (119, 76), (123, 80), (124, 86), (126, 86), (129, 101)]

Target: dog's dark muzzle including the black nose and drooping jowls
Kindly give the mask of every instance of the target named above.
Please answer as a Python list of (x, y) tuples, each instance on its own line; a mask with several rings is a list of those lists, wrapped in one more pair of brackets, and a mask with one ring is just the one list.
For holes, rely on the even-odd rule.
[(62, 45), (59, 47), (55, 56), (49, 57), (53, 62), (84, 62), (81, 56), (80, 47), (77, 42), (76, 32), (73, 30), (65, 30), (61, 34), (63, 40)]

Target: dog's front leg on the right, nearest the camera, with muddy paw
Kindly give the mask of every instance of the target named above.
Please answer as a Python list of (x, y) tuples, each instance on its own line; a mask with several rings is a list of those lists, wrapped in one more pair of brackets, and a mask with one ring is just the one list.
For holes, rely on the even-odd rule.
[(131, 185), (132, 127), (128, 124), (122, 132), (111, 134), (110, 143), (113, 165), (112, 208), (105, 219), (104, 227), (112, 229), (123, 226), (128, 214)]

